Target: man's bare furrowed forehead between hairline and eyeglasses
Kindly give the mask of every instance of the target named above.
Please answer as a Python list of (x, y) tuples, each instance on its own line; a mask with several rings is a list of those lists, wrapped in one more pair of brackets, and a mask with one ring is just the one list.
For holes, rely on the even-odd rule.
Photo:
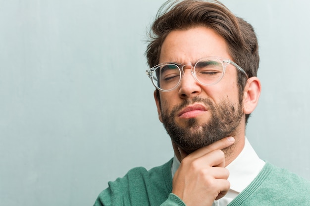
[(210, 28), (174, 30), (162, 43), (159, 63), (189, 63), (206, 56), (231, 58), (227, 48), (226, 41)]

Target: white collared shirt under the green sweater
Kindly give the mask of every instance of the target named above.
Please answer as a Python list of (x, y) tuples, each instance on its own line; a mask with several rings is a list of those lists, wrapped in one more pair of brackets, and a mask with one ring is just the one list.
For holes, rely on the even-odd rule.
[[(241, 153), (226, 166), (229, 170), (230, 189), (223, 198), (214, 201), (212, 206), (227, 206), (255, 179), (264, 165), (265, 162), (259, 159), (250, 142), (245, 138), (245, 145)], [(180, 161), (174, 155), (171, 166), (172, 177), (179, 166)]]

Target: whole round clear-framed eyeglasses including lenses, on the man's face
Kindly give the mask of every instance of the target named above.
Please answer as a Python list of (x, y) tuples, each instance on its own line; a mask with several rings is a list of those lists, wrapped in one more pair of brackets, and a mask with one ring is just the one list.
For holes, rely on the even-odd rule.
[(220, 57), (204, 57), (193, 65), (182, 65), (177, 63), (161, 63), (146, 71), (154, 86), (160, 91), (171, 91), (181, 82), (184, 74), (183, 68), (191, 66), (191, 73), (194, 79), (203, 85), (214, 85), (224, 77), (226, 66), (233, 65), (242, 72), (248, 79), (247, 73), (230, 59)]

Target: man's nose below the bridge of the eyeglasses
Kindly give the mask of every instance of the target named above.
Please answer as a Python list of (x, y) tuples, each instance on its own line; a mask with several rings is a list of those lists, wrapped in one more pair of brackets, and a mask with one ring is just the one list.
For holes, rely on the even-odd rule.
[(201, 85), (192, 74), (192, 65), (182, 67), (183, 76), (179, 86), (179, 96), (182, 99), (193, 98), (201, 93)]

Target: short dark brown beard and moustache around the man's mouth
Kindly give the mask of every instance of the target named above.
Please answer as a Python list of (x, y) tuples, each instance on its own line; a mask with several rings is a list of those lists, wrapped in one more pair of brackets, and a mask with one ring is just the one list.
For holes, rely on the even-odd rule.
[[(191, 118), (186, 121), (184, 127), (178, 125), (174, 120), (176, 114), (195, 102), (208, 105), (211, 113), (210, 120), (200, 125), (197, 119)], [(163, 125), (171, 140), (188, 154), (224, 137), (236, 135), (243, 117), (242, 103), (239, 103), (236, 108), (236, 105), (227, 100), (222, 100), (215, 105), (209, 99), (200, 97), (182, 102), (175, 106), (170, 114), (167, 111), (161, 111)]]

